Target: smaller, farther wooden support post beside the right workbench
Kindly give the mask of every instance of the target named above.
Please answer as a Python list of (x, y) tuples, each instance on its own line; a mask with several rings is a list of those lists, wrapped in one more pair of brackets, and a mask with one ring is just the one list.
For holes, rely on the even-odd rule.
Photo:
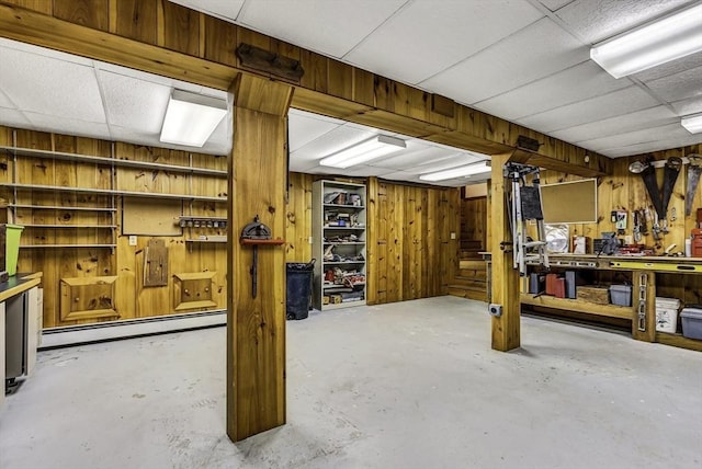
[(491, 301), (502, 306), (502, 316), (492, 318), (492, 348), (501, 352), (520, 344), (519, 272), (512, 268), (512, 253), (500, 249), (500, 242), (512, 239), (502, 176), (502, 167), (510, 156), (492, 156), (490, 191)]

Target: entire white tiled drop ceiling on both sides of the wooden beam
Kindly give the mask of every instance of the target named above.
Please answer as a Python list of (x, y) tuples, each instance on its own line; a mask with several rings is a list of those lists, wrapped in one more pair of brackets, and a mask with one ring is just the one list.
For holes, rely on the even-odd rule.
[[(702, 53), (619, 80), (589, 59), (590, 45), (699, 1), (174, 2), (612, 158), (702, 142), (680, 126), (680, 116), (702, 112)], [(5, 39), (0, 64), (0, 124), (21, 128), (165, 146), (158, 134), (172, 89), (226, 96)], [(399, 136), (406, 150), (337, 170), (318, 161), (378, 130), (299, 111), (290, 125), (293, 171), (418, 182), (485, 158)], [(202, 151), (228, 152), (230, 135), (229, 117)]]

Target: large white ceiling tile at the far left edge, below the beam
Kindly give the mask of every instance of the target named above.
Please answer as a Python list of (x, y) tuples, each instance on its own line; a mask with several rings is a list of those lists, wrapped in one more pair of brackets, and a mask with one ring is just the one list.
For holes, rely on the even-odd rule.
[(19, 108), (58, 119), (105, 122), (92, 67), (9, 48), (0, 48), (0, 64), (2, 91)]

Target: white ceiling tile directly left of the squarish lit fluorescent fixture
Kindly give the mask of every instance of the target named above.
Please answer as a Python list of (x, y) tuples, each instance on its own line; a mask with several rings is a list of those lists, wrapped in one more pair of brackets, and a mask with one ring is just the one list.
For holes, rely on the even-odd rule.
[(98, 71), (107, 108), (107, 123), (160, 133), (171, 94), (170, 87), (104, 70)]

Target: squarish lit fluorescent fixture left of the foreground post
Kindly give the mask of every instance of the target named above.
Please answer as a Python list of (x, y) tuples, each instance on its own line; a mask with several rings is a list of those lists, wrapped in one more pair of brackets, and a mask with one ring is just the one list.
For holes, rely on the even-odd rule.
[(173, 90), (166, 108), (160, 140), (202, 147), (226, 115), (226, 100)]

